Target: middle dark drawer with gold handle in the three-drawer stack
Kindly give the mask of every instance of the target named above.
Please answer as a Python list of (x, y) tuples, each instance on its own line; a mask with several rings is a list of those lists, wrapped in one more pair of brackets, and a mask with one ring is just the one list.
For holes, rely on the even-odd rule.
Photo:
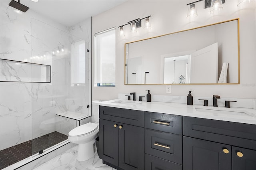
[(182, 164), (182, 136), (144, 129), (144, 152), (158, 158)]

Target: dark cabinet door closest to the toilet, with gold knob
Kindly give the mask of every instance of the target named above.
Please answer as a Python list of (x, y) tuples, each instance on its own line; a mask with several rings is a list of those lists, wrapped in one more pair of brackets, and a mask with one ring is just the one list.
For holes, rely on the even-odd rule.
[(99, 158), (116, 166), (118, 166), (118, 126), (116, 122), (100, 119)]

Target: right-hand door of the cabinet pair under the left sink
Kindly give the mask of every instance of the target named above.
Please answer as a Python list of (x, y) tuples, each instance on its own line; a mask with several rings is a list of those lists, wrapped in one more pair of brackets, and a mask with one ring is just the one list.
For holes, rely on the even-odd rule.
[(119, 167), (144, 170), (144, 128), (126, 124), (119, 127)]

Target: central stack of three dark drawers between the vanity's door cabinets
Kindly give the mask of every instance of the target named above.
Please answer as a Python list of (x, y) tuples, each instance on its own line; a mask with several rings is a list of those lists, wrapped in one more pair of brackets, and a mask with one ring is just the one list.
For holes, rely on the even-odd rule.
[(144, 114), (145, 170), (182, 170), (182, 117)]

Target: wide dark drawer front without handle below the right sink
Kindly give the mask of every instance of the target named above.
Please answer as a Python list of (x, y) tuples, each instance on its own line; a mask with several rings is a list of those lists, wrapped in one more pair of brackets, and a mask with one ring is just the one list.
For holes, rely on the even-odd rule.
[(256, 150), (256, 125), (183, 117), (183, 135)]

